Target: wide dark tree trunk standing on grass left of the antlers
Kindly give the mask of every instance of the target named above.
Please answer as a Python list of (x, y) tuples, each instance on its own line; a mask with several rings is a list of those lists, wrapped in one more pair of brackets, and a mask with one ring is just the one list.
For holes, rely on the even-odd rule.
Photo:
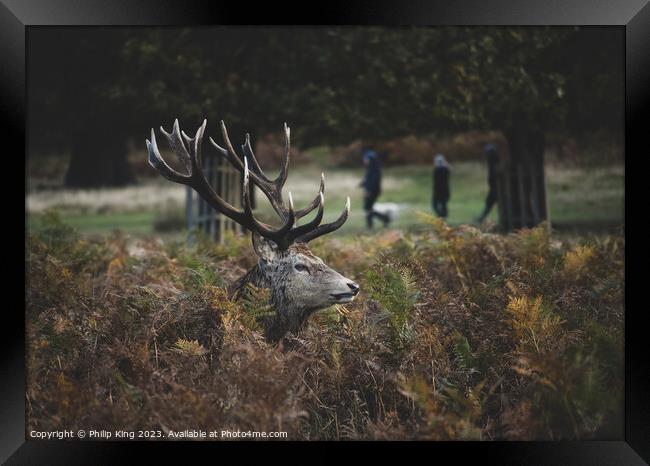
[(102, 131), (88, 128), (74, 138), (65, 176), (68, 188), (125, 186), (135, 182), (127, 160), (126, 137), (98, 137)]

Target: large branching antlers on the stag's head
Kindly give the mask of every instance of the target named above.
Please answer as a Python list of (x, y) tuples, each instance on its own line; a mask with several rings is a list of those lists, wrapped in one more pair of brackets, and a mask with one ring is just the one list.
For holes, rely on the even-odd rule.
[[(325, 204), (324, 174), (321, 174), (321, 182), (318, 195), (306, 208), (298, 211), (294, 210), (291, 192), (289, 192), (289, 206), (285, 206), (284, 200), (282, 198), (282, 188), (287, 181), (287, 176), (289, 173), (290, 152), (290, 129), (286, 123), (284, 124), (285, 150), (283, 164), (280, 169), (280, 174), (276, 179), (271, 180), (264, 174), (259, 163), (257, 163), (257, 159), (255, 158), (255, 154), (251, 148), (250, 136), (246, 134), (246, 141), (242, 145), (244, 156), (243, 158), (240, 158), (239, 155), (235, 152), (232, 143), (230, 142), (228, 131), (226, 130), (226, 125), (223, 121), (221, 121), (221, 132), (223, 134), (223, 139), (226, 147), (223, 148), (219, 146), (212, 140), (212, 138), (210, 138), (210, 142), (223, 157), (225, 157), (235, 168), (237, 168), (237, 170), (239, 170), (244, 175), (244, 182), (242, 186), (244, 209), (239, 210), (236, 207), (232, 206), (214, 192), (214, 189), (212, 189), (212, 186), (210, 186), (205, 176), (203, 175), (201, 149), (206, 125), (207, 120), (204, 120), (203, 124), (196, 131), (196, 135), (193, 138), (189, 137), (187, 134), (185, 134), (185, 132), (180, 131), (178, 119), (174, 120), (174, 125), (171, 133), (166, 132), (162, 126), (160, 127), (160, 131), (167, 137), (169, 145), (174, 150), (179, 160), (185, 165), (187, 174), (179, 173), (167, 165), (167, 163), (165, 163), (160, 155), (160, 151), (158, 150), (158, 146), (156, 144), (156, 136), (153, 128), (151, 129), (151, 141), (148, 139), (146, 140), (147, 150), (149, 151), (149, 165), (158, 170), (158, 172), (160, 172), (160, 174), (168, 180), (175, 183), (191, 186), (196, 192), (199, 193), (199, 195), (201, 195), (201, 197), (203, 197), (203, 199), (205, 199), (205, 201), (210, 206), (212, 206), (212, 208), (231, 218), (245, 228), (253, 232), (257, 232), (265, 238), (274, 241), (278, 247), (280, 247), (280, 249), (286, 249), (294, 242), (306, 243), (315, 238), (318, 238), (319, 236), (330, 233), (340, 228), (341, 225), (343, 225), (348, 219), (348, 216), (350, 214), (349, 197), (347, 199), (345, 209), (337, 220), (332, 223), (320, 225), (320, 222), (323, 219), (323, 210)], [(249, 159), (252, 165), (252, 169), (249, 169)], [(266, 195), (266, 197), (269, 199), (269, 202), (273, 206), (273, 209), (281, 217), (283, 224), (279, 228), (273, 228), (263, 222), (260, 222), (253, 215), (249, 189), (251, 180)], [(298, 219), (304, 217), (316, 208), (318, 208), (318, 212), (312, 221), (304, 225), (297, 225)]]

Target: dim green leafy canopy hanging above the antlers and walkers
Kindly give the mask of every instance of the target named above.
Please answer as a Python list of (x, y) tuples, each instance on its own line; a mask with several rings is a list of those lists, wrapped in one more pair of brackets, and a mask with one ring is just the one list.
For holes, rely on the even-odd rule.
[[(595, 65), (581, 53), (594, 40), (611, 52)], [(155, 30), (126, 41), (124, 59), (143, 79), (118, 88), (143, 111), (197, 120), (218, 110), (260, 134), (301, 121), (306, 146), (522, 119), (562, 128), (567, 105), (580, 114), (588, 95), (601, 109), (621, 103), (607, 97), (622, 64), (613, 44), (604, 30), (548, 27)], [(589, 71), (590, 82), (603, 78), (585, 93), (575, 80)]]

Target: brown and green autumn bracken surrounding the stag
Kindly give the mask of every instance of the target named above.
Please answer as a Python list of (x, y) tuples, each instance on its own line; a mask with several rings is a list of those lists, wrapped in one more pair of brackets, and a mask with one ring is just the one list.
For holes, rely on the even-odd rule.
[(226, 291), (249, 238), (90, 241), (51, 214), (27, 236), (28, 428), (622, 438), (623, 236), (421, 219), (314, 241), (361, 294), (272, 346), (268, 291)]

